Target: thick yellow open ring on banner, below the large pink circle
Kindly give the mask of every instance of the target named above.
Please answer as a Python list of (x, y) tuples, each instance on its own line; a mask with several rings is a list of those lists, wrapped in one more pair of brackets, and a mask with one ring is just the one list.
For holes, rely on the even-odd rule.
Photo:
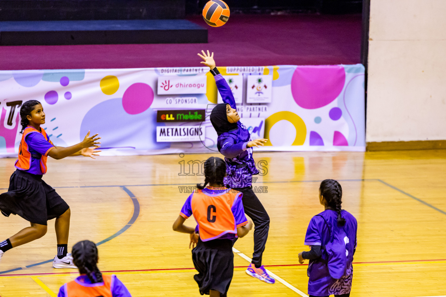
[(303, 145), (306, 138), (305, 122), (301, 119), (301, 117), (299, 117), (297, 114), (291, 111), (279, 111), (275, 114), (271, 114), (265, 120), (265, 138), (268, 139), (268, 141), (265, 143), (265, 146), (273, 145), (269, 140), (269, 130), (271, 129), (272, 126), (274, 126), (275, 123), (281, 120), (287, 120), (288, 122), (293, 124), (294, 128), (296, 128), (296, 138), (294, 138), (292, 145), (293, 146)]

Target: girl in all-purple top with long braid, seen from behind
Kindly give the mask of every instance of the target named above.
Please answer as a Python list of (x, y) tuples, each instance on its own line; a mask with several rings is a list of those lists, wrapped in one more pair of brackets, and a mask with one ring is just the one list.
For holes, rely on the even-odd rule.
[(349, 297), (353, 279), (353, 255), (357, 240), (357, 222), (341, 209), (342, 187), (334, 179), (325, 179), (319, 187), (319, 202), (325, 210), (314, 216), (305, 236), (310, 252), (299, 253), (299, 263), (309, 259), (307, 274), (310, 297)]

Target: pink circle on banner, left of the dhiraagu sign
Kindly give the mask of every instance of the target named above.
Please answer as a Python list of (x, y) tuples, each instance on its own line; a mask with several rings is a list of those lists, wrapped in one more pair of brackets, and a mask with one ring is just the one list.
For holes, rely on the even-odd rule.
[(128, 114), (140, 114), (146, 111), (153, 102), (153, 90), (150, 85), (137, 82), (125, 90), (122, 96), (122, 107)]

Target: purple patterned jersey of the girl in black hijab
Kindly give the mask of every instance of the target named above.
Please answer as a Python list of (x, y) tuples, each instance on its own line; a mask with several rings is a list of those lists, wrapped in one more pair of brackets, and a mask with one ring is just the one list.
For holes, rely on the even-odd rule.
[[(215, 76), (215, 83), (223, 102), (236, 109), (234, 95), (221, 74)], [(252, 175), (259, 174), (252, 158), (252, 147), (246, 147), (251, 141), (251, 134), (240, 121), (237, 122), (237, 126), (237, 130), (224, 132), (217, 139), (219, 151), (226, 162), (227, 175), (224, 183), (231, 188), (251, 187)]]

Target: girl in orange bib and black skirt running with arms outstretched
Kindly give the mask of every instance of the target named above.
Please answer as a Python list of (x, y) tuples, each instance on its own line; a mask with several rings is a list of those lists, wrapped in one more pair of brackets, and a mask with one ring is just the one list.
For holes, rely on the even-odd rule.
[(46, 159), (62, 159), (68, 156), (86, 156), (95, 159), (100, 142), (98, 134), (87, 136), (82, 142), (69, 147), (54, 146), (45, 129), (45, 112), (40, 102), (29, 100), (20, 109), (22, 139), (19, 146), (17, 168), (9, 179), (8, 192), (0, 194), (0, 211), (4, 216), (19, 215), (29, 221), (30, 227), (0, 242), (0, 258), (4, 252), (45, 235), (47, 221), (56, 219), (57, 254), (54, 268), (76, 268), (67, 252), (70, 231), (70, 207), (50, 187), (42, 176), (46, 173)]

